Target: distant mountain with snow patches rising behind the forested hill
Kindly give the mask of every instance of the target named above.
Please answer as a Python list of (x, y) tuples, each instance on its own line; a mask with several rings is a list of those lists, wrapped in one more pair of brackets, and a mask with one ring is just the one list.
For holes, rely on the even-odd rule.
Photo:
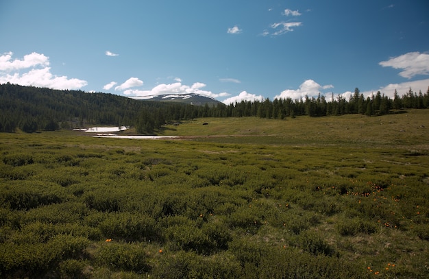
[[(143, 99), (143, 98), (135, 98)], [(195, 106), (217, 106), (220, 103), (217, 99), (212, 97), (199, 95), (195, 93), (186, 93), (186, 94), (163, 94), (163, 95), (151, 95), (144, 97), (145, 101), (169, 101), (177, 102)]]

